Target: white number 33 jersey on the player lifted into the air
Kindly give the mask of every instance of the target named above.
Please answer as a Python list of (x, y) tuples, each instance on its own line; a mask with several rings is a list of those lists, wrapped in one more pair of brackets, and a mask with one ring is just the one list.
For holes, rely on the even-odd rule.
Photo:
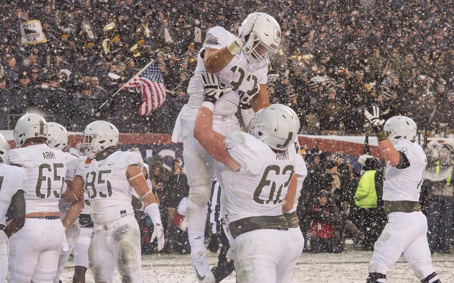
[[(197, 67), (194, 76), (191, 78), (188, 86), (190, 95), (188, 106), (199, 110), (204, 101), (204, 86), (200, 79), (206, 68), (204, 59), (201, 57), (205, 49), (221, 49), (235, 40), (236, 36), (228, 32), (221, 26), (215, 26), (208, 30), (204, 45), (197, 58)], [(220, 84), (231, 87), (233, 90), (226, 93), (215, 104), (214, 115), (230, 116), (238, 110), (239, 96), (238, 92), (251, 91), (255, 84), (266, 84), (268, 67), (265, 66), (259, 70), (252, 67), (246, 59), (243, 52), (236, 54), (233, 59), (221, 71), (216, 73)], [(195, 113), (197, 114), (197, 112)]]

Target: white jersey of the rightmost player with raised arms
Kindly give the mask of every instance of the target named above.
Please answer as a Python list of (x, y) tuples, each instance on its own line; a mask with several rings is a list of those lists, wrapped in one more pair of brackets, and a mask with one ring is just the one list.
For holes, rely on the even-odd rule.
[(397, 151), (407, 156), (410, 166), (398, 169), (386, 164), (383, 181), (383, 200), (419, 201), (424, 170), (427, 165), (426, 154), (421, 145), (401, 140), (394, 144)]

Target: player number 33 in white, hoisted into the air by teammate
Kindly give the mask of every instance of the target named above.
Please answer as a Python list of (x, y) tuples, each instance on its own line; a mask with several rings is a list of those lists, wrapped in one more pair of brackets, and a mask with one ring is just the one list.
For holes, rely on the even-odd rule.
[(260, 12), (249, 14), (240, 24), (237, 35), (221, 26), (211, 28), (199, 52), (197, 67), (187, 89), (189, 102), (177, 118), (172, 141), (184, 144), (183, 157), (190, 186), (186, 220), (191, 260), (199, 282), (214, 282), (206, 259), (204, 232), (215, 163), (193, 137), (196, 116), (204, 100), (200, 74), (204, 71), (216, 74), (222, 85), (229, 87), (226, 95), (212, 109), (213, 129), (227, 136), (239, 129), (234, 115), (238, 105), (245, 125), (253, 116), (249, 105), (254, 111), (269, 106), (266, 91), (268, 63), (269, 57), (278, 50), (280, 37), (277, 21)]

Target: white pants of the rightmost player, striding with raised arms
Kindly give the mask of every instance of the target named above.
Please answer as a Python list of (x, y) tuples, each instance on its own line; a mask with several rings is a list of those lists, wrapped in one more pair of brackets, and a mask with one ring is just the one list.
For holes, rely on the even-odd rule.
[(374, 245), (369, 272), (386, 275), (404, 253), (419, 280), (434, 272), (427, 242), (427, 218), (421, 211), (392, 212)]

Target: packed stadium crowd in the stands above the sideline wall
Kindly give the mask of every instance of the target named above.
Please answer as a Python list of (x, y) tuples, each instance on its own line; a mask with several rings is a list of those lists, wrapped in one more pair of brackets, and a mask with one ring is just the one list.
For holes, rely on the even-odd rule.
[[(302, 133), (363, 134), (371, 104), (384, 118), (415, 119), (429, 136), (453, 133), (454, 6), (431, 0), (7, 1), (0, 129), (38, 111), (72, 131), (106, 119), (120, 132), (170, 133), (206, 31), (220, 25), (235, 33), (252, 11), (281, 25), (267, 88), (271, 102), (298, 113)], [(46, 42), (20, 44), (27, 20), (40, 21)], [(109, 100), (152, 59), (166, 84), (162, 107), (138, 116), (135, 89)]]

